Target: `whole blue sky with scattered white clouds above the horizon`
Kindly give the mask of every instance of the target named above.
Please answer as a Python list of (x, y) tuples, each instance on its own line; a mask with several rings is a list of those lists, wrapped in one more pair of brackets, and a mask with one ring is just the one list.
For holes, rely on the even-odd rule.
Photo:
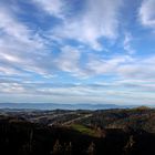
[(155, 105), (155, 0), (0, 0), (0, 103)]

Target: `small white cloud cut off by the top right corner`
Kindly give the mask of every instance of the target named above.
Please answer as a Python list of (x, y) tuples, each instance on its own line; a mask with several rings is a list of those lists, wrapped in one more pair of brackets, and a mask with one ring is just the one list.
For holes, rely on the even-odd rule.
[(155, 0), (143, 0), (140, 8), (140, 19), (143, 25), (155, 28)]

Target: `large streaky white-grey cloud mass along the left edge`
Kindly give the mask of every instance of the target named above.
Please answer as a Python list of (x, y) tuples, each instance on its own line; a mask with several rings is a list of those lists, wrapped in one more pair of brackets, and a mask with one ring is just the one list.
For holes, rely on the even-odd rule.
[[(45, 41), (29, 27), (20, 22), (10, 10), (0, 9), (0, 71), (3, 73), (22, 73), (31, 71), (45, 73), (40, 62), (48, 58), (41, 51), (45, 50)], [(44, 69), (43, 69), (44, 68)]]

